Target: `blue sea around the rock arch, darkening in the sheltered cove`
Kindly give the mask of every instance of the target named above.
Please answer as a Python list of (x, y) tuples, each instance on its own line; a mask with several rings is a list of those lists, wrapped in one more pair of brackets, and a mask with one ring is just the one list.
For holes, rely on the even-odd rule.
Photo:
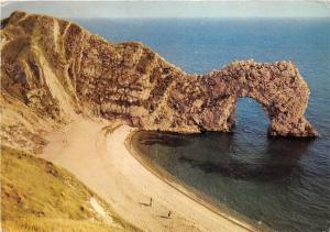
[(311, 89), (306, 117), (320, 139), (270, 139), (262, 107), (240, 99), (234, 133), (141, 132), (136, 148), (251, 220), (278, 231), (330, 230), (330, 19), (75, 21), (114, 43), (141, 41), (187, 73), (234, 59), (293, 60)]

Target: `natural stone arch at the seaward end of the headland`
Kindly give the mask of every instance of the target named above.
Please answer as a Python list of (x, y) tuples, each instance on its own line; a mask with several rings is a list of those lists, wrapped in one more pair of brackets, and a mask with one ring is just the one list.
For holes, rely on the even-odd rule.
[[(293, 63), (237, 62), (204, 78), (210, 98), (226, 108), (222, 115), (228, 118), (221, 120), (218, 128), (230, 130), (238, 98), (250, 97), (262, 104), (270, 118), (270, 135), (317, 135), (304, 117), (309, 89)], [(212, 113), (217, 114), (217, 109)]]

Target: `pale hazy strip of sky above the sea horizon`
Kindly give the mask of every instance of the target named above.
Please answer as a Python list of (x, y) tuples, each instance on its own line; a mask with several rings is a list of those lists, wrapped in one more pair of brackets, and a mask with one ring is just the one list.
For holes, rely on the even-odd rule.
[(14, 10), (58, 18), (317, 18), (330, 16), (324, 1), (8, 1), (1, 18)]

